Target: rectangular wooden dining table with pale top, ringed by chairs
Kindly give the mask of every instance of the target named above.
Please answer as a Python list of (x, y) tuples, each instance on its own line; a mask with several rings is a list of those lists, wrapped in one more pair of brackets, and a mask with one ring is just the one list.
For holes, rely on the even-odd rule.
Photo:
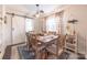
[[(40, 45), (40, 52), (37, 53), (37, 56), (41, 56), (41, 52), (46, 50), (46, 47), (53, 43), (56, 43), (57, 42), (57, 37), (58, 35), (39, 35), (36, 37), (36, 40), (40, 42), (39, 45)], [(44, 57), (43, 57), (44, 58)], [(46, 58), (46, 57), (45, 57)]]

